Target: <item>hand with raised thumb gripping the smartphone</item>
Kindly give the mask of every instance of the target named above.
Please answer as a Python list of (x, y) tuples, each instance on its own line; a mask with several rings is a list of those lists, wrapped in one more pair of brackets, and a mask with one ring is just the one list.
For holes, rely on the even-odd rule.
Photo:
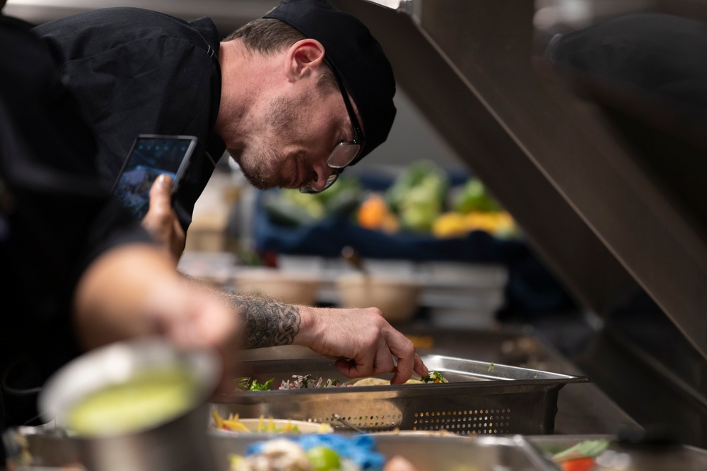
[(179, 262), (187, 242), (187, 236), (172, 208), (172, 179), (160, 175), (150, 189), (150, 209), (142, 220), (142, 226), (153, 239)]

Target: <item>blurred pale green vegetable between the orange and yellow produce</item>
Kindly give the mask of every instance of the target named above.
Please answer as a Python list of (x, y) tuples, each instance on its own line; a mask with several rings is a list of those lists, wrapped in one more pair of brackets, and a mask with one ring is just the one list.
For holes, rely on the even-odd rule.
[(447, 192), (447, 174), (430, 160), (414, 162), (399, 175), (386, 193), (386, 200), (400, 220), (400, 227), (426, 232), (442, 213)]

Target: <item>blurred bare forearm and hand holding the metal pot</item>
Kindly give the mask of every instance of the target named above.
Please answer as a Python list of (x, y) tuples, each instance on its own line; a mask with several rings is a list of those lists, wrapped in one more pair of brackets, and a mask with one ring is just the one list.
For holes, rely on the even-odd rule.
[(223, 357), (221, 390), (233, 389), (230, 367), (242, 338), (233, 306), (182, 278), (152, 244), (124, 244), (90, 264), (76, 285), (74, 324), (86, 350), (142, 335), (214, 348)]

